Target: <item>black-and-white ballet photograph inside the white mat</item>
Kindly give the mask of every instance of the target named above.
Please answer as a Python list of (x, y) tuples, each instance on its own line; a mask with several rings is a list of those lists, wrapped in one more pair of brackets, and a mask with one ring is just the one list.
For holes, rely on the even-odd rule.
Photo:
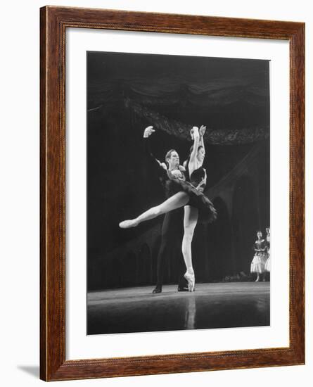
[(270, 61), (87, 51), (87, 334), (270, 325)]

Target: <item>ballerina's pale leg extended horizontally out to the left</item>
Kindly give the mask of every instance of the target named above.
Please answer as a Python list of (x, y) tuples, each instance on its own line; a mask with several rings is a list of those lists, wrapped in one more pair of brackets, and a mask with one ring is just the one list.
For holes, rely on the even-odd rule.
[(165, 214), (177, 208), (184, 207), (189, 201), (189, 196), (185, 192), (177, 192), (177, 194), (168, 198), (165, 202), (157, 205), (153, 208), (150, 208), (143, 214), (139, 215), (135, 219), (124, 220), (120, 222), (119, 226), (121, 229), (129, 229), (130, 227), (136, 227), (139, 223), (145, 222), (146, 220), (153, 219), (159, 215)]

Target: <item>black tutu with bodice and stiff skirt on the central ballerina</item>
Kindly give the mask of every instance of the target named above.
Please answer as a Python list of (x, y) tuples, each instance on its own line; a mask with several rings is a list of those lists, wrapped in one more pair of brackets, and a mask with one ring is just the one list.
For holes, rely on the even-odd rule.
[[(184, 191), (189, 196), (189, 202), (186, 205), (192, 205), (195, 208), (198, 208), (199, 211), (199, 221), (203, 223), (211, 223), (217, 218), (217, 211), (215, 207), (207, 196), (203, 192), (196, 189), (198, 184), (200, 184), (201, 179), (205, 176), (205, 170), (203, 168), (198, 168), (191, 174), (191, 182), (186, 182), (186, 180), (178, 179), (171, 175), (170, 171), (168, 173), (170, 180), (167, 182), (167, 190), (171, 194), (177, 194), (177, 192)], [(204, 189), (204, 186), (202, 186)]]

